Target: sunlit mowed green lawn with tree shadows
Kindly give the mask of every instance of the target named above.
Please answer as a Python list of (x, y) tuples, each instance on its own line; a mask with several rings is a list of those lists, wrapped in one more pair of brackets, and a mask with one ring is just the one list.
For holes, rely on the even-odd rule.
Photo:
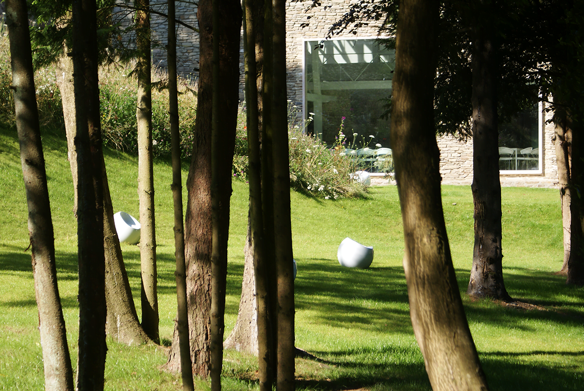
[[(59, 289), (74, 368), (77, 355), (77, 239), (67, 146), (60, 131), (44, 130)], [(138, 217), (137, 160), (106, 150), (114, 211)], [(183, 166), (183, 181), (187, 167)], [(34, 300), (27, 210), (15, 129), (0, 129), (0, 389), (43, 389), (43, 363)], [(160, 330), (172, 339), (176, 314), (171, 168), (155, 164)], [(234, 181), (227, 289), (227, 335), (241, 293), (247, 185)], [(186, 188), (184, 190), (186, 205)], [(584, 289), (566, 286), (561, 267), (558, 192), (503, 188), (503, 267), (510, 295), (530, 309), (465, 295), (472, 260), (469, 186), (444, 186), (443, 207), (465, 310), (492, 390), (577, 390), (584, 383)], [(366, 199), (319, 200), (291, 193), (296, 279), (296, 345), (319, 358), (296, 361), (299, 390), (429, 390), (413, 337), (402, 268), (403, 233), (397, 189), (371, 188)], [(342, 268), (336, 250), (345, 237), (373, 245), (367, 270)], [(140, 257), (122, 244), (140, 313)], [(165, 348), (108, 341), (107, 390), (180, 390), (162, 372)], [(255, 390), (256, 358), (225, 352), (223, 388)], [(197, 380), (197, 389), (208, 389)]]

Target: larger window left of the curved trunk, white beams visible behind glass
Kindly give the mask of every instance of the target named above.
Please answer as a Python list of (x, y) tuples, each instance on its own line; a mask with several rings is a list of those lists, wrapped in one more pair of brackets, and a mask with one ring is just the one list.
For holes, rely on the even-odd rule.
[(305, 41), (308, 132), (332, 144), (342, 123), (347, 144), (390, 147), (390, 121), (382, 117), (394, 66), (394, 50), (373, 39)]

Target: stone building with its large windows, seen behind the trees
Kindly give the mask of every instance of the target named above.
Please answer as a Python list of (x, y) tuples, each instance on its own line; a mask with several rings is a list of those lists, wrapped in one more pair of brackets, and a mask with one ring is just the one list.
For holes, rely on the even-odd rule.
[[(377, 39), (379, 25), (370, 23), (356, 33), (335, 34), (325, 40), (332, 23), (343, 16), (357, 0), (330, 0), (327, 8), (309, 8), (311, 1), (287, 1), (287, 94), (303, 119), (312, 116), (309, 131), (331, 142), (343, 129), (355, 144), (374, 141), (390, 147), (389, 120), (382, 119), (383, 99), (391, 94), (394, 51)], [(157, 11), (164, 13), (165, 5)], [(196, 27), (196, 4), (177, 2), (176, 15)], [(166, 20), (152, 16), (154, 39), (166, 42)], [(179, 72), (196, 77), (197, 33), (177, 27)], [(241, 50), (243, 52), (243, 50)], [(153, 63), (166, 66), (161, 48), (152, 51)], [(243, 56), (242, 56), (243, 57)], [(243, 58), (241, 60), (243, 67)], [(243, 75), (243, 71), (242, 71)], [(243, 76), (242, 76), (243, 77)], [(243, 83), (242, 83), (243, 86)], [(243, 100), (243, 87), (241, 88)], [(500, 177), (502, 185), (554, 187), (557, 166), (551, 116), (543, 105), (521, 113), (512, 123), (500, 126)], [(357, 136), (353, 139), (353, 133)], [(373, 136), (373, 137), (371, 137)], [(373, 143), (369, 146), (373, 147)], [(438, 138), (440, 171), (444, 184), (472, 182), (472, 140), (457, 141), (452, 136)], [(507, 148), (507, 149), (504, 149)], [(383, 177), (383, 174), (380, 174)]]

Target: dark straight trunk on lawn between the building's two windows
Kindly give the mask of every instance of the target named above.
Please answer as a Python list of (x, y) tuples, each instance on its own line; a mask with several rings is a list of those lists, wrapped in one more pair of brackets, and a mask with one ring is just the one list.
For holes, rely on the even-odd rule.
[[(492, 13), (482, 4), (475, 11)], [(481, 12), (481, 13), (483, 13)], [(497, 128), (496, 46), (491, 27), (475, 22), (472, 46), (474, 251), (468, 295), (511, 300), (503, 282), (501, 183)]]

